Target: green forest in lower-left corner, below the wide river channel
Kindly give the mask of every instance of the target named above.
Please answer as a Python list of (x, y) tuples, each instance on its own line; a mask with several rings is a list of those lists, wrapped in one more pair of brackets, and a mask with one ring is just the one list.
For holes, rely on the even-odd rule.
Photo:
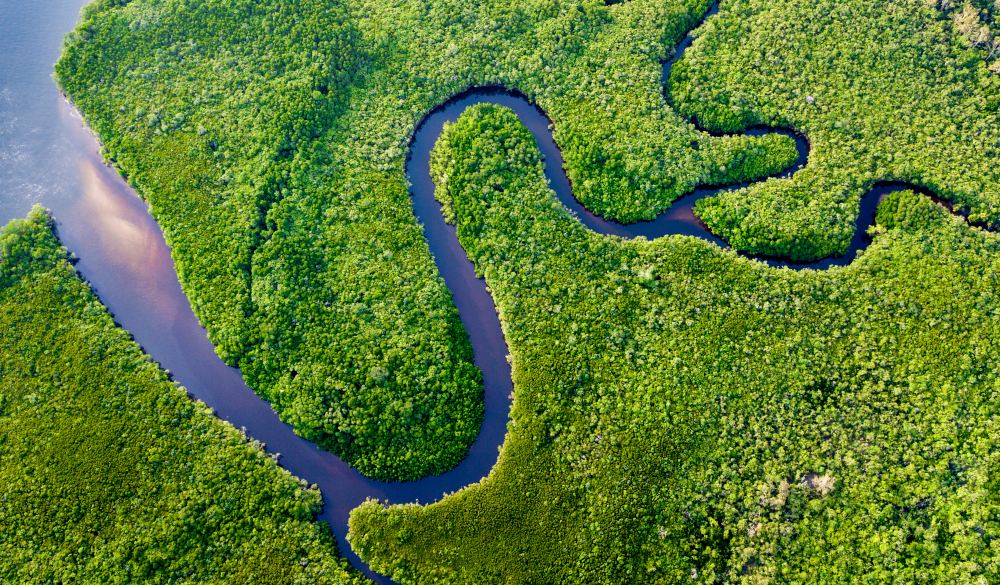
[(45, 212), (0, 232), (0, 582), (360, 582), (320, 505), (115, 326)]

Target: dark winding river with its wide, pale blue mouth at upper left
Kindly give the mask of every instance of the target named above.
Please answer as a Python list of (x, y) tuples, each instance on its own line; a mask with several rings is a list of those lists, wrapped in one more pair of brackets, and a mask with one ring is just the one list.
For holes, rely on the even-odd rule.
[[(170, 250), (145, 203), (103, 164), (94, 137), (55, 90), (50, 77), (52, 63), (58, 57), (62, 34), (72, 27), (84, 1), (5, 4), (0, 6), (0, 220), (23, 216), (35, 202), (48, 206), (63, 243), (79, 258), (78, 271), (116, 321), (194, 397), (212, 407), (219, 417), (244, 428), (269, 452), (280, 454), (283, 467), (318, 485), (324, 501), (321, 517), (332, 526), (342, 554), (378, 583), (391, 581), (368, 570), (345, 539), (350, 510), (366, 498), (432, 502), (479, 481), (496, 462), (510, 412), (510, 366), (495, 306), (458, 243), (454, 227), (444, 222), (434, 199), (428, 161), (445, 122), (457, 119), (477, 103), (514, 110), (538, 142), (545, 158), (545, 174), (556, 196), (583, 225), (597, 233), (625, 238), (682, 234), (726, 246), (692, 214), (698, 199), (721, 189), (699, 189), (654, 221), (631, 225), (611, 222), (589, 213), (573, 198), (562, 157), (549, 131), (550, 121), (523, 96), (500, 88), (475, 88), (436, 108), (417, 126), (406, 172), (412, 184), (414, 214), (423, 225), (434, 261), (469, 333), (476, 364), (483, 372), (486, 416), (468, 457), (455, 469), (410, 483), (366, 478), (338, 457), (295, 435), (270, 405), (246, 386), (239, 371), (216, 356), (178, 284)], [(685, 39), (680, 45), (678, 56), (689, 42)], [(664, 66), (664, 74), (668, 73), (669, 64)], [(751, 133), (766, 131), (753, 129)], [(795, 138), (799, 161), (786, 176), (807, 162), (808, 145), (804, 138)], [(768, 262), (795, 269), (849, 263), (855, 252), (868, 244), (865, 229), (874, 219), (878, 202), (886, 193), (904, 187), (880, 184), (865, 195), (846, 255), (809, 264)]]

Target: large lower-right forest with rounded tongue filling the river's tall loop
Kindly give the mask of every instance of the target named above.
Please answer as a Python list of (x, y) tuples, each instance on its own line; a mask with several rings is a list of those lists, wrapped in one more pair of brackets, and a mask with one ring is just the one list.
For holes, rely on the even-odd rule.
[(828, 271), (584, 228), (531, 135), (476, 106), (432, 171), (497, 302), (497, 467), (351, 542), (402, 583), (1000, 577), (1000, 238), (911, 191)]

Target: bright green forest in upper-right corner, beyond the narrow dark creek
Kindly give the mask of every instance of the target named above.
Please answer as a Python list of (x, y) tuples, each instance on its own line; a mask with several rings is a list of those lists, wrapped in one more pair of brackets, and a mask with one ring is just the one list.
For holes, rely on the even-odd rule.
[(755, 253), (827, 256), (847, 248), (858, 200), (883, 180), (1000, 222), (1000, 76), (927, 4), (722, 3), (674, 66), (672, 103), (716, 130), (794, 128), (812, 151), (790, 180), (700, 202), (713, 232)]

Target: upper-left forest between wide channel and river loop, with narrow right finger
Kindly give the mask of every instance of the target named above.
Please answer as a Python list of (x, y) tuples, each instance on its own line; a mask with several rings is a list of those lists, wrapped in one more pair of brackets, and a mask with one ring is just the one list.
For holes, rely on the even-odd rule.
[(366, 474), (450, 468), (479, 373), (403, 175), (420, 118), (499, 84), (555, 120), (577, 194), (649, 218), (795, 158), (666, 106), (660, 61), (708, 0), (98, 0), (57, 67), (151, 203), (221, 355)]

